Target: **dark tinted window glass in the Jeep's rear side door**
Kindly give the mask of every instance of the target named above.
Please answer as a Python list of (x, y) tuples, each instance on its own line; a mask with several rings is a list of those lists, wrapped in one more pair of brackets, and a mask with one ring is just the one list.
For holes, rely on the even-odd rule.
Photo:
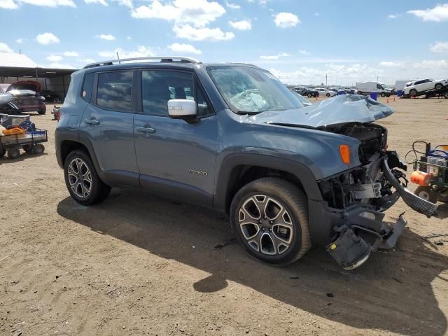
[(132, 111), (132, 71), (98, 74), (97, 105), (104, 109)]

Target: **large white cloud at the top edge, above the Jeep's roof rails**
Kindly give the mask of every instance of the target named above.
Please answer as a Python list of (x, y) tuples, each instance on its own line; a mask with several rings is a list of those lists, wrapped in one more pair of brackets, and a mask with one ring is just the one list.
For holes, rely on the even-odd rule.
[(162, 19), (195, 27), (205, 27), (224, 14), (223, 6), (216, 1), (207, 0), (174, 0), (165, 4), (154, 0), (151, 4), (139, 6), (131, 12), (132, 17), (137, 19)]

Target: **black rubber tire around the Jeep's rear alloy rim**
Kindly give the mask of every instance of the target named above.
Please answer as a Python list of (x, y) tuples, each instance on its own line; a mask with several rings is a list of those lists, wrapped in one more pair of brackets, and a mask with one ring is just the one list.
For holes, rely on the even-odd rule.
[[(73, 163), (73, 160), (81, 160), (85, 167), (88, 168), (88, 170), (90, 171), (90, 190), (88, 195), (85, 195), (84, 193), (84, 186), (85, 183), (83, 180), (81, 180), (80, 183), (77, 184), (77, 186), (80, 186), (81, 190), (80, 192), (76, 193), (75, 190), (73, 190), (71, 188), (71, 184), (70, 181), (73, 182), (72, 177), (74, 175), (78, 175), (73, 172), (73, 170), (70, 170), (69, 167), (70, 165)], [(75, 166), (72, 167), (76, 167), (76, 162), (75, 162)], [(79, 169), (82, 172), (82, 169)], [(71, 174), (70, 176), (70, 181), (69, 181), (69, 171), (73, 174)], [(75, 176), (76, 177), (76, 176)], [(107, 186), (106, 183), (104, 183), (101, 179), (99, 179), (99, 176), (97, 174), (97, 171), (93, 165), (92, 160), (90, 159), (90, 155), (88, 155), (87, 153), (85, 153), (85, 151), (81, 151), (81, 150), (76, 150), (76, 151), (72, 151), (71, 153), (69, 153), (69, 155), (67, 155), (65, 162), (64, 162), (64, 178), (65, 178), (65, 185), (67, 187), (67, 190), (69, 190), (69, 193), (71, 195), (71, 197), (73, 197), (73, 200), (75, 200), (76, 202), (83, 204), (83, 205), (92, 205), (92, 204), (97, 204), (99, 202), (102, 202), (104, 200), (106, 200), (106, 198), (109, 196), (109, 193), (111, 192), (111, 187)], [(87, 181), (87, 179), (85, 179)], [(76, 179), (76, 181), (78, 181), (78, 179)], [(88, 181), (87, 181), (88, 183)], [(75, 183), (73, 183), (75, 184)], [(78, 187), (74, 186), (74, 188), (76, 190), (78, 190)], [(79, 195), (79, 193), (83, 193), (83, 195)]]

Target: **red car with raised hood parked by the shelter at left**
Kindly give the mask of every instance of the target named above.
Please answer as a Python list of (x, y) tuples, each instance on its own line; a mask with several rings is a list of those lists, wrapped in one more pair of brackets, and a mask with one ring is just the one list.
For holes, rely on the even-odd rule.
[(47, 109), (40, 91), (40, 83), (34, 80), (19, 80), (9, 85), (6, 93), (10, 93), (13, 96), (13, 103), (19, 107), (20, 111), (37, 111), (39, 114), (45, 114)]

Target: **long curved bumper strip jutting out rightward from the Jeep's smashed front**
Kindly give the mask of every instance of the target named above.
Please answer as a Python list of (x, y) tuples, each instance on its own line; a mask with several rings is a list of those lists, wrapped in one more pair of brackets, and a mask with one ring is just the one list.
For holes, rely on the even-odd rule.
[(437, 216), (437, 205), (434, 203), (428, 202), (426, 200), (423, 200), (422, 198), (418, 197), (417, 195), (414, 195), (411, 193), (407, 188), (402, 186), (400, 181), (395, 179), (395, 176), (393, 175), (393, 172), (388, 166), (387, 160), (383, 161), (383, 171), (386, 175), (386, 178), (389, 182), (391, 182), (391, 185), (393, 188), (395, 188), (400, 196), (402, 197), (403, 201), (412, 209), (419, 212), (420, 214), (426, 215), (429, 217), (431, 216)]

